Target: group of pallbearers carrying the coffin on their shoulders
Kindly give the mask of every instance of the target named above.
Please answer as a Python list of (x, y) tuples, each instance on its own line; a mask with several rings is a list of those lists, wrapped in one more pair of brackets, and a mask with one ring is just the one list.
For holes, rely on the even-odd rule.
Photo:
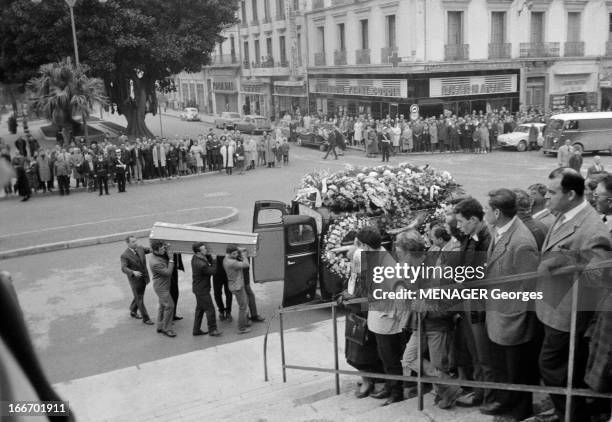
[[(125, 241), (127, 248), (121, 254), (120, 261), (121, 271), (127, 276), (133, 294), (130, 316), (142, 320), (144, 324), (156, 325), (160, 334), (176, 337), (174, 323), (183, 319), (176, 313), (179, 271), (185, 271), (182, 255), (169, 251), (168, 245), (160, 240), (151, 240), (150, 247), (140, 246), (134, 236), (128, 236)], [(230, 244), (225, 256), (216, 256), (209, 253), (205, 243), (196, 242), (192, 245), (192, 252), (192, 291), (196, 298), (192, 328), (194, 336), (208, 334), (217, 337), (222, 334), (217, 327), (211, 287), (221, 321), (233, 320), (232, 299), (236, 299), (238, 334), (250, 332), (253, 322), (265, 321), (257, 312), (255, 294), (250, 285), (249, 257), (244, 249)], [(149, 255), (148, 266), (146, 255)], [(156, 321), (151, 319), (144, 303), (145, 290), (151, 279), (159, 301)], [(204, 315), (207, 331), (202, 330)]]

